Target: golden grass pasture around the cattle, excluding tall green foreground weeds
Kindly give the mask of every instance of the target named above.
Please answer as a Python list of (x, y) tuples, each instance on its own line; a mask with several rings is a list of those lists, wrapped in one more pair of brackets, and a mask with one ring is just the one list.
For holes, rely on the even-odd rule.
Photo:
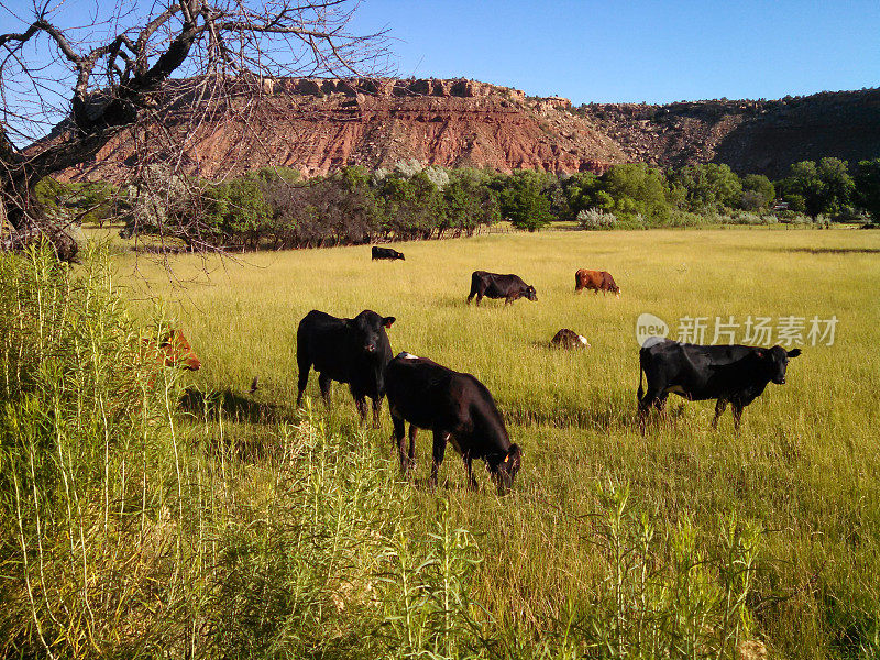
[[(143, 309), (164, 300), (190, 340), (204, 366), (187, 378), (238, 402), (224, 432), (243, 441), (271, 444), (277, 420), (297, 419), (296, 329), (311, 309), (394, 316), (395, 354), (480, 378), (522, 448), (522, 469), (507, 497), (486, 487), (482, 470), (484, 487), (471, 493), (450, 450), (440, 492), (484, 557), (473, 597), (513, 628), (561, 619), (568, 602), (588, 600), (606, 579), (591, 516), (602, 487), (626, 483), (638, 510), (670, 524), (690, 519), (707, 539), (732, 513), (762, 525), (752, 605), (756, 635), (773, 657), (856, 657), (859, 640), (880, 635), (880, 232), (559, 230), (394, 248), (405, 262), (371, 262), (363, 245), (175, 255), (167, 264), (122, 253), (114, 263), (127, 296)], [(580, 267), (613, 273), (622, 298), (575, 295)], [(538, 301), (465, 306), (474, 270), (517, 273)], [(802, 345), (788, 384), (770, 384), (746, 408), (739, 433), (729, 410), (712, 430), (713, 402), (672, 396), (668, 417), (642, 437), (635, 419), (641, 312), (664, 319), (673, 334), (679, 318), (708, 317), (706, 343), (716, 316), (839, 321), (834, 345)], [(592, 346), (548, 349), (560, 328)], [(261, 388), (250, 396), (254, 376)], [(326, 415), (314, 373), (307, 394)], [(266, 418), (235, 421), (251, 409)], [(383, 428), (362, 432), (348, 389), (334, 384), (329, 424), (393, 458), (387, 406)], [(424, 488), (429, 437), (422, 432), (417, 448), (417, 507), (437, 497)]]

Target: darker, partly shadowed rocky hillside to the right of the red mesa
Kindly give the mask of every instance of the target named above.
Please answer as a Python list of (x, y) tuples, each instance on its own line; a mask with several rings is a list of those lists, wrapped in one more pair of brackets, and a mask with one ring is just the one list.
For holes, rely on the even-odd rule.
[(880, 89), (773, 101), (591, 103), (576, 112), (627, 160), (663, 166), (716, 162), (779, 177), (798, 161), (880, 156)]

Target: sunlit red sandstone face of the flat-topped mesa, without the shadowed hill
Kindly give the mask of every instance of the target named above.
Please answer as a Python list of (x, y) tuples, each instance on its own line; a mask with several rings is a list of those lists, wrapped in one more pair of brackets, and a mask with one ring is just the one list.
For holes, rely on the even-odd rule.
[[(392, 168), (400, 161), (499, 172), (538, 168), (602, 173), (626, 160), (590, 120), (566, 111), (566, 99), (528, 100), (515, 89), (472, 80), (264, 79), (260, 99), (241, 95), (210, 109), (211, 120), (188, 125), (166, 118), (178, 157), (205, 177), (262, 166), (293, 167), (305, 176), (345, 165)], [(162, 151), (161, 133), (125, 133), (92, 163), (66, 178), (121, 179), (133, 166), (135, 140)]]

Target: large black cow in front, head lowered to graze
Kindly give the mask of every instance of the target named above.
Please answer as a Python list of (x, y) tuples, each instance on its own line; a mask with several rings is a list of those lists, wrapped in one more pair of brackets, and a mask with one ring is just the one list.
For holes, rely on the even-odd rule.
[[(476, 490), (471, 471), (474, 459), (483, 459), (498, 492), (514, 484), (522, 452), (510, 443), (495, 400), (471, 374), (454, 372), (426, 358), (400, 353), (387, 370), (388, 407), (400, 470), (409, 473), (416, 459), (418, 429), (433, 431), (431, 487), (443, 462), (447, 441), (464, 459), (468, 484)], [(404, 422), (409, 422), (409, 453), (404, 448)]]

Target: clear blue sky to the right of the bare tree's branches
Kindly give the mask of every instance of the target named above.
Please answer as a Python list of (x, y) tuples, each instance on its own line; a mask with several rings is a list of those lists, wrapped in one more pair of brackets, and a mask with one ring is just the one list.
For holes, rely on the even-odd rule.
[(780, 98), (880, 87), (880, 0), (364, 0), (402, 77), (590, 101)]

